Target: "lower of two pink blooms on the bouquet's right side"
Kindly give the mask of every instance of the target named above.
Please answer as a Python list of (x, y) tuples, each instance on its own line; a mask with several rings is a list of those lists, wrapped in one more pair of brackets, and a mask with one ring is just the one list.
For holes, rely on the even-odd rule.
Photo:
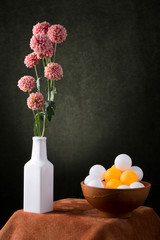
[(58, 63), (49, 63), (44, 70), (44, 76), (50, 80), (60, 80), (63, 75), (63, 69)]

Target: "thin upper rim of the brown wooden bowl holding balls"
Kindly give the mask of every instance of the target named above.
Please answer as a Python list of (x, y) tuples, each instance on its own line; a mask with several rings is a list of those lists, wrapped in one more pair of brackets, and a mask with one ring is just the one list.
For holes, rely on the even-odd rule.
[(146, 181), (139, 181), (141, 183), (147, 183), (147, 186), (144, 187), (140, 187), (140, 188), (101, 188), (101, 187), (92, 187), (92, 186), (88, 186), (86, 184), (84, 184), (84, 181), (81, 181), (81, 185), (87, 187), (87, 188), (92, 188), (92, 189), (98, 189), (98, 190), (102, 190), (102, 191), (137, 191), (138, 189), (146, 189), (146, 188), (150, 188), (151, 187), (151, 183), (146, 182)]

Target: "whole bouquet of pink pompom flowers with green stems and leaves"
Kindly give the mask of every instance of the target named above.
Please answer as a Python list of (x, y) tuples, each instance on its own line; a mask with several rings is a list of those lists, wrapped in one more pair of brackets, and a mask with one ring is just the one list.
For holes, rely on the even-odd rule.
[[(67, 31), (60, 24), (50, 25), (45, 21), (33, 26), (32, 32), (30, 48), (33, 52), (25, 57), (24, 63), (27, 68), (34, 67), (36, 78), (28, 75), (23, 76), (18, 81), (18, 87), (29, 94), (27, 106), (33, 111), (34, 135), (44, 137), (56, 107), (55, 81), (63, 77), (62, 66), (55, 62), (57, 45), (66, 40)], [(44, 68), (43, 77), (39, 76), (36, 67), (40, 62)], [(42, 94), (42, 81), (47, 84), (46, 100)], [(33, 92), (34, 88), (37, 88), (37, 92)]]

